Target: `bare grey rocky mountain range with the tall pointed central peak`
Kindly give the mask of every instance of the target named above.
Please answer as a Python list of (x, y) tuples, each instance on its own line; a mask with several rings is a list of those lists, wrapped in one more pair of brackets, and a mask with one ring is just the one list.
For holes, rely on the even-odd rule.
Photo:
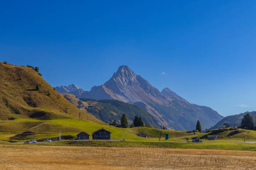
[(210, 128), (223, 118), (210, 107), (189, 103), (169, 88), (160, 92), (127, 65), (120, 66), (110, 80), (104, 85), (92, 87), (90, 91), (84, 91), (74, 84), (55, 89), (59, 93), (71, 93), (78, 98), (129, 102), (146, 110), (168, 129), (194, 130), (197, 120), (200, 120), (202, 128)]

